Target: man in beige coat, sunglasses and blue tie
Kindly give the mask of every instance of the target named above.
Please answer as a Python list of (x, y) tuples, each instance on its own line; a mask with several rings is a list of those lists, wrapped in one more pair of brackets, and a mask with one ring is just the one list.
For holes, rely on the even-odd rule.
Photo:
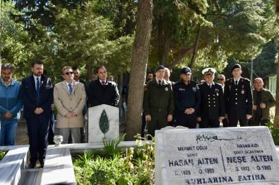
[(73, 143), (80, 143), (80, 127), (83, 127), (82, 108), (85, 106), (85, 86), (74, 81), (73, 69), (65, 66), (62, 69), (65, 81), (54, 86), (54, 105), (58, 110), (57, 127), (63, 136), (62, 144), (67, 144), (69, 132)]

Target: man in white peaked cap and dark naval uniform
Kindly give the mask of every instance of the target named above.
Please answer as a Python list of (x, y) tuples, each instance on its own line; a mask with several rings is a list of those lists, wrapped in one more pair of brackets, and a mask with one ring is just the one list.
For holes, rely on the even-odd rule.
[(201, 92), (201, 104), (197, 112), (200, 128), (220, 127), (220, 120), (225, 119), (223, 89), (220, 84), (213, 82), (215, 72), (213, 68), (203, 69), (205, 83), (198, 85)]

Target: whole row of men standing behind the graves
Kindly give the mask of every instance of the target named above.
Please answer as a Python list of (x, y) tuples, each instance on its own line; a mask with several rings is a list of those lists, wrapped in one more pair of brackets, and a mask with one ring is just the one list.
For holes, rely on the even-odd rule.
[[(87, 105), (117, 106), (120, 95), (113, 75), (107, 78), (105, 66), (96, 69), (89, 87), (79, 79), (77, 67), (63, 67), (61, 72), (65, 80), (55, 86), (43, 70), (43, 62), (34, 60), (31, 70), (32, 75), (20, 83), (12, 79), (12, 64), (1, 66), (0, 146), (14, 145), (20, 110), (24, 106), (23, 118), (30, 144), (29, 168), (33, 169), (37, 160), (44, 166), (47, 142), (54, 144), (53, 103), (58, 111), (56, 127), (60, 128), (63, 144), (71, 139), (73, 143), (85, 143)], [(212, 68), (204, 69), (202, 84), (190, 81), (192, 73), (188, 67), (181, 69), (181, 80), (177, 83), (170, 82), (170, 71), (164, 66), (157, 66), (155, 78), (148, 72), (142, 131), (146, 121), (151, 136), (155, 135), (155, 130), (168, 125), (192, 129), (197, 127), (197, 122), (200, 128), (207, 128), (219, 127), (221, 120), (223, 127), (236, 127), (238, 121), (241, 126), (264, 125), (269, 121), (269, 108), (275, 106), (275, 99), (263, 88), (263, 79), (255, 79), (252, 92), (249, 79), (241, 77), (239, 64), (232, 67), (233, 78), (225, 81), (225, 76), (219, 75), (220, 84), (213, 82), (215, 72)], [(127, 96), (128, 90), (129, 86), (124, 86), (122, 95)]]

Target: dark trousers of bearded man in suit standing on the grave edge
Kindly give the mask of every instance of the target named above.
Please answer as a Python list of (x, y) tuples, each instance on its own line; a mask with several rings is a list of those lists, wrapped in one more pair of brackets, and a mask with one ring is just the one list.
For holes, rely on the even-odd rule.
[(26, 123), (30, 145), (30, 163), (34, 164), (37, 160), (43, 163), (45, 161), (45, 154), (47, 153), (49, 116), (27, 118)]

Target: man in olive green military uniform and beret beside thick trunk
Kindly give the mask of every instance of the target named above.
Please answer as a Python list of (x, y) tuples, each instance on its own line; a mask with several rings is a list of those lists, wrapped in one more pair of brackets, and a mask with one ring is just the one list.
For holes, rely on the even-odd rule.
[(146, 84), (144, 90), (144, 111), (146, 112), (148, 134), (151, 136), (155, 136), (156, 129), (160, 130), (168, 126), (175, 110), (172, 86), (163, 79), (164, 72), (164, 66), (157, 66), (156, 77)]

